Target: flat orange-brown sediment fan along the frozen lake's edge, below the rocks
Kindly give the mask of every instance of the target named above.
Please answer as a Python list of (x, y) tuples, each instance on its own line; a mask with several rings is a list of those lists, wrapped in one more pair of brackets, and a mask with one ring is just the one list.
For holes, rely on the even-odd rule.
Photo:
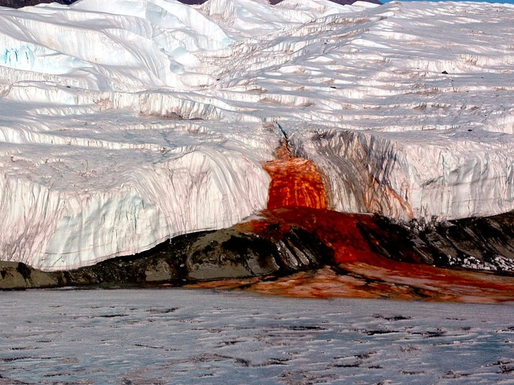
[[(415, 271), (409, 277), (397, 276), (394, 269), (369, 264), (345, 265), (345, 274), (330, 267), (312, 273), (297, 273), (277, 281), (261, 281), (245, 286), (256, 293), (299, 298), (381, 298), (490, 303), (514, 300), (514, 280), (475, 271)], [(422, 267), (423, 269), (423, 267)], [(448, 272), (447, 269), (438, 269)], [(455, 280), (455, 281), (454, 281)]]

